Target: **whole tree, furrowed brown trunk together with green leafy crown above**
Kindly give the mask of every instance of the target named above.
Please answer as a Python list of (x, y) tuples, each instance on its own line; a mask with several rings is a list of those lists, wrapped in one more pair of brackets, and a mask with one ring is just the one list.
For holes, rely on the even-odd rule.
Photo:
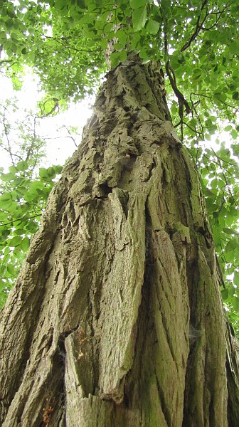
[[(5, 2), (6, 9), (16, 14), (18, 6), (9, 4)], [(49, 52), (48, 41), (38, 37), (43, 20), (53, 26), (50, 40), (64, 43), (62, 65), (65, 40), (78, 50), (82, 42), (91, 55), (89, 46), (107, 45), (115, 37), (110, 57), (115, 68), (97, 95), (78, 151), (51, 192), (41, 228), (1, 315), (4, 427), (239, 423), (237, 341), (223, 312), (223, 278), (196, 170), (200, 157), (209, 157), (202, 174), (211, 181), (211, 152), (200, 152), (200, 138), (205, 128), (215, 130), (212, 111), (217, 105), (219, 117), (230, 119), (230, 130), (236, 132), (233, 72), (239, 45), (230, 38), (236, 36), (238, 6), (233, 1), (183, 6), (176, 1), (110, 5), (58, 0), (30, 4), (31, 10), (23, 13), (19, 28), (37, 12), (28, 37), (31, 53), (42, 52), (34, 62), (40, 75)], [(73, 33), (67, 35), (69, 22)], [(78, 31), (83, 38), (75, 41)], [(218, 39), (215, 31), (223, 37)], [(164, 51), (158, 54), (162, 38)], [(137, 54), (127, 55), (124, 48)], [(9, 59), (4, 60), (11, 62), (8, 49)], [(18, 53), (16, 46), (14, 53), (20, 62), (28, 55), (23, 49)], [(218, 88), (215, 77), (208, 73), (207, 80), (202, 68), (194, 66), (197, 59), (207, 69), (203, 58), (208, 50), (217, 62)], [(158, 62), (163, 57), (165, 67)], [(226, 60), (230, 68), (225, 68)], [(77, 60), (75, 64), (78, 69)], [(181, 79), (181, 64), (186, 64), (187, 83)], [(61, 82), (56, 88), (52, 70), (43, 82), (60, 95)], [(185, 146), (166, 105), (163, 70), (179, 101)], [(68, 77), (72, 95), (75, 75)], [(232, 95), (219, 90), (223, 85), (234, 85)], [(213, 100), (216, 106), (211, 107)], [(185, 112), (193, 117), (184, 117)], [(194, 157), (186, 147), (190, 135)], [(231, 268), (237, 233), (225, 223), (221, 227), (220, 218), (223, 208), (228, 216), (235, 209), (236, 163), (229, 149), (221, 150), (214, 157), (221, 171), (209, 190), (208, 207), (219, 230), (232, 236), (221, 256), (225, 264), (226, 248), (234, 242), (229, 246)], [(230, 162), (227, 168), (225, 162)], [(230, 167), (234, 181), (229, 182)], [(225, 185), (219, 206), (212, 200), (218, 202), (220, 193), (213, 189), (220, 187), (220, 179)]]

